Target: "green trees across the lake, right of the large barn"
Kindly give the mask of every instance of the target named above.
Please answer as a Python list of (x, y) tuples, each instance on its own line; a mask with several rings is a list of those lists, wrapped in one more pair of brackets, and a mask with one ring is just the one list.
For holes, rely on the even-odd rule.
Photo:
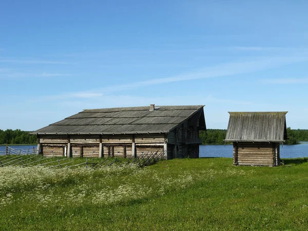
[[(200, 131), (199, 137), (203, 144), (224, 144), (226, 129), (207, 129)], [(308, 142), (308, 130), (306, 129), (286, 129), (287, 140), (285, 144), (298, 144), (299, 142)]]

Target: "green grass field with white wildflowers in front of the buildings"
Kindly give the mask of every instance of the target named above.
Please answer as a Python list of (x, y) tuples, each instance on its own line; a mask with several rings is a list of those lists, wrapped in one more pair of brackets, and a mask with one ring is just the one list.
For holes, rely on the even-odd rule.
[[(76, 163), (83, 160), (76, 159)], [(0, 168), (1, 230), (307, 230), (307, 159)]]

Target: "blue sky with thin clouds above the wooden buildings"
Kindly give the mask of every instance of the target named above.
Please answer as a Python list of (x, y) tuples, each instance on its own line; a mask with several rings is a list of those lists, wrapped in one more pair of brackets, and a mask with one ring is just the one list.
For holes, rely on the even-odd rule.
[(1, 1), (0, 129), (83, 109), (288, 111), (308, 129), (306, 1)]

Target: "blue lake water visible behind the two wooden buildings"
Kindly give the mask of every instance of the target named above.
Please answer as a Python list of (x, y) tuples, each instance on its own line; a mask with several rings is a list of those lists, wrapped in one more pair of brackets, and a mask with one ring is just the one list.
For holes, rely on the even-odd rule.
[[(14, 149), (33, 149), (36, 145), (10, 146)], [(5, 151), (5, 146), (0, 146), (0, 152)], [(200, 145), (200, 155), (202, 157), (228, 157), (233, 158), (232, 145)], [(280, 158), (308, 157), (308, 142), (297, 145), (281, 145)]]

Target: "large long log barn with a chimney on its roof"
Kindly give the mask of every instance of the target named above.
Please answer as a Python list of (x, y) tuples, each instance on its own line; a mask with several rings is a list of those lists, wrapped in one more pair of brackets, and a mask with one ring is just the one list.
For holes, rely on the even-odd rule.
[(198, 158), (204, 105), (83, 110), (31, 132), (44, 156), (137, 157), (164, 151), (165, 158)]

